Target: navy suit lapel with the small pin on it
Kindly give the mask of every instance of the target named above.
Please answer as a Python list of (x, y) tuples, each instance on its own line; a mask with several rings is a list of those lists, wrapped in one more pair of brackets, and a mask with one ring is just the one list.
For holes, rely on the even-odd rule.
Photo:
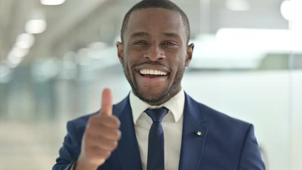
[[(185, 93), (185, 107), (179, 169), (198, 169), (203, 153), (208, 128), (199, 104)], [(196, 132), (201, 132), (199, 136)]]

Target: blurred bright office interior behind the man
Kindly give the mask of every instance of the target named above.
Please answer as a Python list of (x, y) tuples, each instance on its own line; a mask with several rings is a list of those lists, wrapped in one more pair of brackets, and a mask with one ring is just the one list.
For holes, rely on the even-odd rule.
[[(0, 0), (0, 169), (51, 169), (68, 120), (128, 94), (114, 45), (137, 2)], [(195, 43), (184, 90), (253, 123), (266, 169), (302, 169), (302, 1), (173, 2)]]

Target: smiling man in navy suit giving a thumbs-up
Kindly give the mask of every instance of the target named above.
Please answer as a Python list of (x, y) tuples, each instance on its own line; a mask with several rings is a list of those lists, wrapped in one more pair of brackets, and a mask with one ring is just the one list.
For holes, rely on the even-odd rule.
[(144, 0), (124, 17), (118, 57), (132, 91), (67, 123), (53, 169), (264, 169), (253, 125), (188, 96), (181, 87), (194, 45), (185, 13)]

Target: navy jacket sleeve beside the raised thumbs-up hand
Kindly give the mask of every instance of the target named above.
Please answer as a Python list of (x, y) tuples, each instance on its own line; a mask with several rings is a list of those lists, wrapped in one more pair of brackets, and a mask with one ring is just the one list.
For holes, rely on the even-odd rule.
[(80, 141), (81, 139), (78, 138), (72, 121), (67, 122), (67, 135), (52, 170), (72, 170), (71, 167), (81, 150)]

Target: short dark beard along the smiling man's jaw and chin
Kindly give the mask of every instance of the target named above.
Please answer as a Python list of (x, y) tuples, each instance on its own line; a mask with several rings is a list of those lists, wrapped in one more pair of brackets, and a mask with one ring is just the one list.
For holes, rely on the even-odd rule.
[[(173, 97), (174, 95), (177, 94), (177, 92), (179, 90), (178, 87), (181, 84), (181, 80), (182, 80), (182, 77), (183, 77), (183, 74), (185, 71), (185, 65), (183, 67), (180, 67), (177, 70), (176, 76), (170, 87), (167, 86), (162, 90), (162, 92), (160, 92), (158, 94), (152, 94), (152, 95), (144, 94), (144, 92), (139, 89), (135, 78), (133, 78), (133, 80), (131, 79), (130, 71), (129, 71), (130, 69), (125, 65), (125, 63), (123, 63), (123, 70), (124, 70), (125, 77), (126, 77), (127, 81), (130, 83), (130, 86), (131, 86), (134, 94), (139, 99), (141, 99), (147, 103), (158, 103), (159, 101), (167, 101), (168, 99), (170, 99), (171, 97)], [(133, 75), (133, 77), (135, 77), (135, 76)], [(149, 90), (152, 90), (152, 87), (149, 87)]]

